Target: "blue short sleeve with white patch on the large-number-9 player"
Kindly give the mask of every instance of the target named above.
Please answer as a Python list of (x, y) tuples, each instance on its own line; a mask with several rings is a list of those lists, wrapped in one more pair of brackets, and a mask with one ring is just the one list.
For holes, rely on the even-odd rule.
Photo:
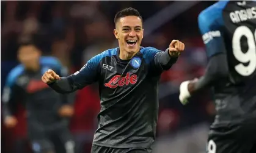
[(228, 1), (219, 1), (203, 10), (198, 17), (199, 29), (207, 50), (207, 57), (225, 53), (222, 10)]

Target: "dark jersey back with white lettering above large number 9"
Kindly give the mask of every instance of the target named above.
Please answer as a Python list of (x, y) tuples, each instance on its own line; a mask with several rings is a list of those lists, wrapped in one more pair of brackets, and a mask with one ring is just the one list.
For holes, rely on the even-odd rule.
[(256, 82), (256, 1), (230, 1), (222, 15), (230, 82), (250, 87)]

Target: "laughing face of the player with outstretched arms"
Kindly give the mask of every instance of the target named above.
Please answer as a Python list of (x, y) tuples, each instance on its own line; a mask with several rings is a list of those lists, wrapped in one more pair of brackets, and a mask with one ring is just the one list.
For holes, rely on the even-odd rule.
[(124, 49), (128, 54), (138, 52), (143, 38), (141, 18), (137, 16), (120, 18), (116, 23), (114, 35), (119, 40), (120, 48)]

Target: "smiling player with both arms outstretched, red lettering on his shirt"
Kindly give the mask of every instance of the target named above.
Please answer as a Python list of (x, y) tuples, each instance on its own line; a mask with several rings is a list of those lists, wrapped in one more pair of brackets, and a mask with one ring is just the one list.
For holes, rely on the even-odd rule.
[(173, 40), (165, 52), (141, 47), (142, 17), (136, 9), (121, 10), (114, 21), (119, 48), (96, 55), (68, 77), (60, 78), (49, 69), (42, 80), (59, 93), (99, 82), (101, 112), (91, 152), (152, 152), (159, 77), (176, 62), (185, 45)]

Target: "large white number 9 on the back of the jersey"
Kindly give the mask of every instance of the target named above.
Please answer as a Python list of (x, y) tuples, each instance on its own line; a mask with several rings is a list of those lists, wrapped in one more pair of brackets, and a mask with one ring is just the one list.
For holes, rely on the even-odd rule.
[[(241, 49), (241, 37), (244, 36), (247, 38), (248, 50), (246, 53), (242, 52)], [(232, 47), (233, 54), (240, 64), (235, 66), (235, 70), (241, 74), (242, 76), (250, 76), (254, 73), (256, 69), (256, 30), (254, 34), (252, 34), (251, 30), (246, 26), (240, 26), (236, 28), (233, 39), (232, 39)], [(245, 66), (243, 63), (248, 63)]]

